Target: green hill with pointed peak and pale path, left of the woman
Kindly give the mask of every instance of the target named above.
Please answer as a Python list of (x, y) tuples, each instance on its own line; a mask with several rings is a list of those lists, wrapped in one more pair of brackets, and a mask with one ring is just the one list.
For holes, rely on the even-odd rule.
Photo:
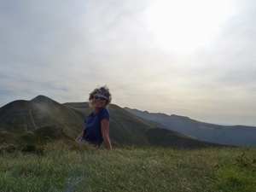
[(31, 101), (10, 102), (0, 108), (0, 128), (10, 131), (33, 131), (44, 126), (55, 126), (75, 137), (83, 125), (72, 109), (46, 96), (37, 96)]

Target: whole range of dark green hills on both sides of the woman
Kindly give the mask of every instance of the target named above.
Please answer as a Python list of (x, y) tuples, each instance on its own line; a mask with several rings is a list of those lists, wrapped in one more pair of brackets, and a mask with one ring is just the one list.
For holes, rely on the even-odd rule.
[[(144, 119), (111, 104), (109, 134), (113, 146), (165, 146), (204, 148), (220, 146), (171, 131), (154, 119)], [(73, 141), (92, 111), (87, 102), (59, 103), (47, 96), (18, 100), (0, 108), (0, 144), (65, 139)], [(134, 111), (133, 111), (134, 112)]]

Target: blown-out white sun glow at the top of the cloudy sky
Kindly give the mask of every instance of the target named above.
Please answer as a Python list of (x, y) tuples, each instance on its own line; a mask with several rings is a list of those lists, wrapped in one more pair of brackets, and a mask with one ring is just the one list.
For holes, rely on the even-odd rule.
[(232, 13), (232, 0), (154, 0), (145, 16), (157, 44), (186, 54), (209, 46)]

